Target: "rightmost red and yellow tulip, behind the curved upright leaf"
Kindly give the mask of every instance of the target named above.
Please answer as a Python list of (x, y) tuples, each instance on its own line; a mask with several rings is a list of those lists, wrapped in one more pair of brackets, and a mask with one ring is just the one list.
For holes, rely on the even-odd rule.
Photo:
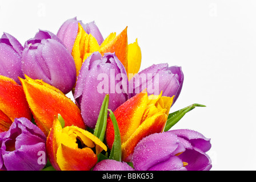
[[(130, 161), (139, 140), (163, 131), (172, 102), (173, 97), (162, 97), (162, 92), (159, 96), (141, 92), (114, 111), (121, 134), (123, 161)], [(107, 119), (106, 142), (112, 148), (114, 128), (110, 118)]]

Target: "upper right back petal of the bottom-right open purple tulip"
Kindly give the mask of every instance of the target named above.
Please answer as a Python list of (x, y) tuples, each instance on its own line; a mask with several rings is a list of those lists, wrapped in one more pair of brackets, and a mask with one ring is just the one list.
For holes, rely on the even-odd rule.
[(193, 130), (170, 130), (167, 131), (188, 140), (193, 147), (199, 148), (203, 152), (207, 152), (211, 148), (210, 139), (203, 136), (201, 133)]

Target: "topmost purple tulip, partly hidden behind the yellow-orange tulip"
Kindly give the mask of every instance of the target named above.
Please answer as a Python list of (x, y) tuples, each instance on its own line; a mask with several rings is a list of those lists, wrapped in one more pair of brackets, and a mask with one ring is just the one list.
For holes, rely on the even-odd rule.
[(62, 24), (57, 33), (58, 38), (62, 40), (63, 44), (65, 44), (70, 53), (72, 52), (75, 38), (77, 38), (78, 23), (81, 23), (81, 26), (85, 32), (87, 34), (93, 35), (98, 44), (101, 45), (103, 42), (103, 37), (94, 22), (83, 24), (82, 21), (77, 20), (76, 17), (71, 18)]

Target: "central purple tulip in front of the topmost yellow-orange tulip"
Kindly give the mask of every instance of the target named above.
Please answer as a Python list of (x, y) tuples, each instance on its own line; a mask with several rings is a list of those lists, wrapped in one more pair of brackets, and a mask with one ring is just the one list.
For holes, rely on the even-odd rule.
[(115, 110), (129, 97), (128, 79), (121, 61), (114, 53), (94, 52), (81, 67), (74, 98), (81, 109), (83, 121), (94, 128), (102, 102), (109, 94), (109, 109)]

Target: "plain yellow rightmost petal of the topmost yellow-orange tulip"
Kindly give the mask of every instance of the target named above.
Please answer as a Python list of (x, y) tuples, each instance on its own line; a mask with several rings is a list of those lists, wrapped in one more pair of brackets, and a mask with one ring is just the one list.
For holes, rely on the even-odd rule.
[[(141, 68), (141, 48), (138, 45), (138, 40), (128, 45), (127, 57), (127, 75), (134, 75), (139, 72)], [(130, 80), (131, 77), (129, 77)]]

